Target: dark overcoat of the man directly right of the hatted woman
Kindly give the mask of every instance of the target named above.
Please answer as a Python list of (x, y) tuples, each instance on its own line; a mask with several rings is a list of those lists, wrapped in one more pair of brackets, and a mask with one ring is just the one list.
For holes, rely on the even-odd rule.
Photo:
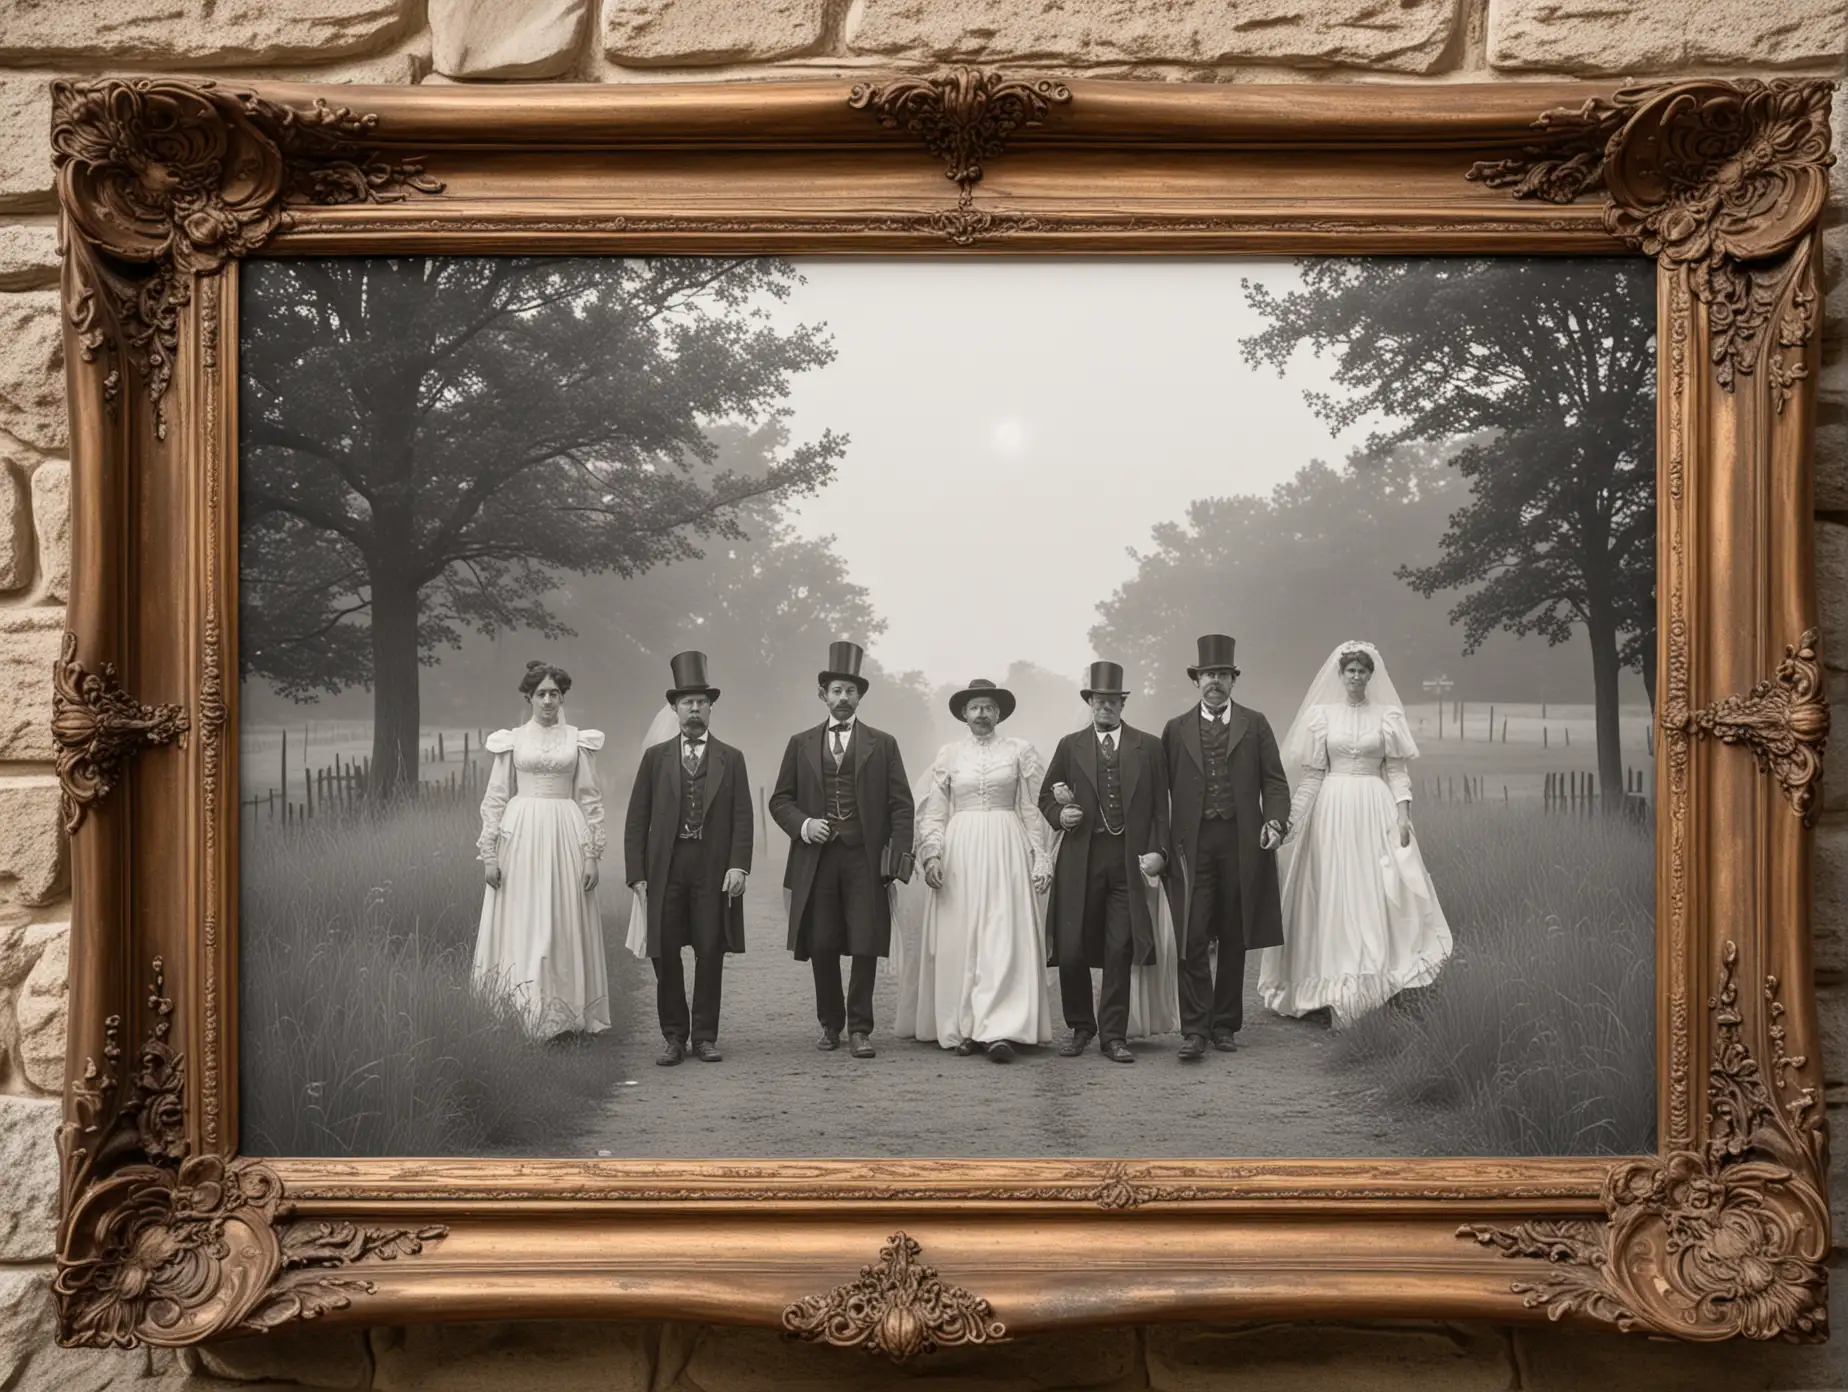
[[(1129, 871), (1129, 932), (1138, 967), (1155, 961), (1155, 919), (1149, 897), (1142, 893), (1140, 858), (1157, 854), (1172, 860), (1168, 849), (1168, 762), (1155, 736), (1118, 727), (1116, 769), (1124, 784), (1124, 860)], [(1101, 935), (1085, 945), (1085, 884), (1090, 876), (1092, 832), (1101, 821), (1098, 791), (1098, 734), (1085, 727), (1068, 734), (1052, 752), (1040, 780), (1040, 812), (1059, 830), (1059, 799), (1053, 784), (1064, 784), (1085, 810), (1085, 821), (1059, 839), (1059, 860), (1046, 900), (1046, 965), (1103, 965)], [(1162, 871), (1166, 874), (1166, 869)]]

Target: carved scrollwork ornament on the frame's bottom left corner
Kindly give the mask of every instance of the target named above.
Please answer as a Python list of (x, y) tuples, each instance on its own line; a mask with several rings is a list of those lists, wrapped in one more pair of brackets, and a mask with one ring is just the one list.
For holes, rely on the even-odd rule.
[(296, 1220), (266, 1165), (190, 1155), (187, 1061), (172, 1044), (164, 991), (155, 958), (152, 1024), (131, 1076), (118, 1076), (122, 1019), (111, 1015), (102, 1063), (89, 1059), (70, 1087), (70, 1118), (57, 1133), (59, 1344), (172, 1348), (312, 1320), (375, 1290), (344, 1266), (414, 1257), (447, 1235), (440, 1226)]

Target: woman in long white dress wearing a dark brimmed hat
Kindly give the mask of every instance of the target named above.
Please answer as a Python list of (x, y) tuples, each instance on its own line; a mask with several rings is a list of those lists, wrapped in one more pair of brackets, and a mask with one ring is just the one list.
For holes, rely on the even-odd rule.
[(968, 738), (937, 751), (918, 804), (917, 843), (930, 898), (918, 958), (917, 1037), (996, 1063), (1052, 1039), (1046, 989), (1048, 826), (1044, 763), (1026, 739), (996, 734), (1011, 691), (974, 680), (950, 697)]

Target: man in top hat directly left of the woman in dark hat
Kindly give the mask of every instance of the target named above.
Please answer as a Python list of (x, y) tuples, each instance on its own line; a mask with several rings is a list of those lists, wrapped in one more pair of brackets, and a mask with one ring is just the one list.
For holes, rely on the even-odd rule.
[[(835, 1050), (841, 1030), (856, 1059), (870, 1059), (872, 982), (891, 950), (885, 885), (911, 850), (911, 784), (898, 741), (859, 719), (870, 682), (859, 643), (830, 643), (815, 688), (821, 725), (789, 736), (771, 815), (789, 834), (789, 950), (815, 972), (815, 1046)], [(841, 958), (852, 958), (841, 996)]]

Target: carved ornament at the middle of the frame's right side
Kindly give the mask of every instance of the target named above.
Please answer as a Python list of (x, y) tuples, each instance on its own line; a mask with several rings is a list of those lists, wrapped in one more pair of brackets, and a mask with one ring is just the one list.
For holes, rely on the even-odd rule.
[(1700, 710), (1663, 708), (1661, 723), (1672, 738), (1708, 738), (1745, 745), (1783, 788), (1791, 810), (1809, 826), (1817, 817), (1822, 788), (1822, 751), (1830, 738), (1828, 680), (1817, 656), (1820, 632), (1805, 629), (1783, 649), (1770, 680), (1745, 695), (1726, 697)]

